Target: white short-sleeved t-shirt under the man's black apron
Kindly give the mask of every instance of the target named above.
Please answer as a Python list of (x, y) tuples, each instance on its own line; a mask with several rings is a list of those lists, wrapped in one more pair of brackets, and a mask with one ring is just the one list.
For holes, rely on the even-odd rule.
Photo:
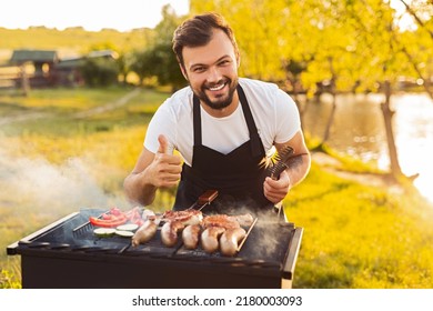
[[(273, 150), (274, 142), (286, 142), (301, 129), (296, 104), (276, 84), (246, 78), (240, 78), (239, 83), (266, 153)], [(158, 151), (158, 136), (164, 134), (170, 144), (169, 152), (178, 150), (184, 162), (191, 165), (194, 144), (192, 99), (191, 88), (185, 87), (159, 107), (144, 139), (144, 147), (149, 151)], [(224, 154), (250, 140), (241, 104), (224, 118), (214, 118), (201, 109), (201, 127), (202, 144)]]

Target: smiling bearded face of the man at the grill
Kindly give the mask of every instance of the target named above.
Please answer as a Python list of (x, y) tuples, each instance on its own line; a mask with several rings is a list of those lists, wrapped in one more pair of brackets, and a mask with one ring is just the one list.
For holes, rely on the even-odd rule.
[(183, 76), (202, 103), (222, 110), (233, 101), (238, 86), (239, 58), (229, 37), (214, 30), (203, 47), (183, 48)]

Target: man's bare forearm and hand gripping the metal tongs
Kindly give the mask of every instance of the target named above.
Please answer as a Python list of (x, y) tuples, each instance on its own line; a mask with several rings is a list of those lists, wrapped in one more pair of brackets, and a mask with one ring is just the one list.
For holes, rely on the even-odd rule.
[(275, 143), (279, 152), (286, 146), (294, 150), (289, 168), (280, 174), (279, 180), (268, 177), (263, 183), (264, 195), (273, 203), (283, 200), (290, 189), (300, 183), (310, 171), (311, 157), (302, 131), (298, 131), (291, 140), (284, 143)]

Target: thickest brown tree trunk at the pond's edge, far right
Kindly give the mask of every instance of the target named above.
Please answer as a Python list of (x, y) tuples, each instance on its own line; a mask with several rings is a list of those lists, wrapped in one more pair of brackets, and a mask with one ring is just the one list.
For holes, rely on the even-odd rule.
[(402, 175), (402, 170), (399, 163), (397, 150), (394, 141), (394, 131), (392, 127), (392, 118), (394, 117), (395, 111), (391, 110), (390, 107), (391, 94), (392, 94), (390, 81), (385, 81), (383, 87), (385, 93), (385, 101), (382, 102), (381, 108), (382, 108), (383, 120), (385, 124), (387, 150), (389, 150), (390, 163), (391, 163), (391, 173), (394, 178), (399, 178)]

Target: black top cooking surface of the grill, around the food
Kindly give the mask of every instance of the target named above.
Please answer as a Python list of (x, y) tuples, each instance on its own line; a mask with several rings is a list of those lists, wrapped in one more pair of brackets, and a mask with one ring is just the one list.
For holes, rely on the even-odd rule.
[[(290, 234), (286, 230), (281, 230), (280, 222), (261, 221), (255, 218), (253, 223), (248, 228), (245, 238), (240, 242), (239, 252), (235, 258), (223, 257), (220, 252), (212, 254), (207, 253), (201, 245), (194, 250), (189, 250), (183, 247), (181, 237), (178, 243), (172, 247), (165, 247), (161, 241), (161, 225), (153, 237), (145, 244), (138, 247), (131, 245), (131, 238), (123, 237), (97, 237), (93, 233), (95, 228), (88, 222), (90, 215), (101, 215), (104, 211), (101, 210), (81, 210), (73, 217), (64, 220), (61, 223), (50, 227), (47, 230), (42, 229), (39, 234), (24, 238), (18, 245), (20, 250), (38, 250), (61, 252), (63, 254), (71, 253), (89, 253), (89, 254), (117, 254), (122, 257), (149, 257), (149, 258), (170, 258), (188, 261), (211, 261), (218, 263), (234, 264), (243, 262), (246, 265), (275, 265), (284, 261), (286, 248), (275, 248), (269, 251), (266, 244), (261, 244), (258, 241), (270, 235), (273, 240), (279, 241), (281, 245), (288, 245)], [(284, 224), (288, 228), (288, 224)], [(275, 228), (275, 230), (269, 230)], [(268, 233), (265, 233), (268, 232)], [(72, 234), (71, 234), (72, 233)], [(250, 242), (251, 241), (251, 242)], [(14, 249), (17, 252), (17, 249)], [(12, 253), (10, 253), (12, 254)], [(280, 262), (280, 263), (279, 263)]]

